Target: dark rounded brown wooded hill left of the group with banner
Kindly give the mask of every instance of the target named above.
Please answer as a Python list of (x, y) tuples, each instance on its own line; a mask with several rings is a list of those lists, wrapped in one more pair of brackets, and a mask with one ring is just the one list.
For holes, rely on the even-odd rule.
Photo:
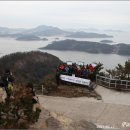
[(57, 64), (61, 62), (57, 57), (42, 52), (18, 52), (0, 58), (0, 75), (5, 69), (10, 69), (15, 76), (16, 83), (32, 82), (39, 85), (44, 76), (55, 74)]

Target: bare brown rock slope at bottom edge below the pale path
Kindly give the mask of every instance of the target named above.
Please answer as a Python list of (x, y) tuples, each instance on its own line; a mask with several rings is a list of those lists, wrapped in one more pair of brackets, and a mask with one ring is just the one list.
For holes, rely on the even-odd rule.
[[(62, 114), (42, 109), (38, 122), (30, 128), (43, 130), (96, 130), (96, 125), (85, 120), (74, 121)], [(101, 130), (101, 129), (99, 129)]]

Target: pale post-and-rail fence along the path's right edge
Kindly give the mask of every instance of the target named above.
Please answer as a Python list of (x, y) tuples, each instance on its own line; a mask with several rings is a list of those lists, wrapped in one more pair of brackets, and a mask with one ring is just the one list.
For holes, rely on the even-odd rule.
[(96, 83), (107, 88), (130, 90), (129, 80), (112, 79), (105, 76), (96, 75)]

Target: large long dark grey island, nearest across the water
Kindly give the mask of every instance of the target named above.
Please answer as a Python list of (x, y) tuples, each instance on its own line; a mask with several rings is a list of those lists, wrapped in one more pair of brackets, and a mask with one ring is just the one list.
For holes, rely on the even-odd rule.
[(88, 53), (104, 53), (104, 54), (119, 54), (119, 55), (130, 55), (129, 44), (101, 44), (99, 42), (90, 41), (76, 41), (76, 40), (62, 40), (54, 41), (52, 44), (40, 49), (49, 50), (70, 50), (70, 51), (83, 51)]

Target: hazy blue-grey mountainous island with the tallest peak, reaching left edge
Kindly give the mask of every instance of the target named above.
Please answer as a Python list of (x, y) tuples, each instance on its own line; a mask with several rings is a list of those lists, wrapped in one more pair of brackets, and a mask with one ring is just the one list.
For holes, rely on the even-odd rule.
[(67, 35), (70, 34), (67, 31), (64, 31), (60, 28), (53, 26), (40, 25), (35, 28), (30, 29), (15, 29), (15, 28), (7, 28), (0, 27), (0, 37), (15, 37), (21, 35), (34, 35), (34, 36), (58, 36), (58, 35)]

